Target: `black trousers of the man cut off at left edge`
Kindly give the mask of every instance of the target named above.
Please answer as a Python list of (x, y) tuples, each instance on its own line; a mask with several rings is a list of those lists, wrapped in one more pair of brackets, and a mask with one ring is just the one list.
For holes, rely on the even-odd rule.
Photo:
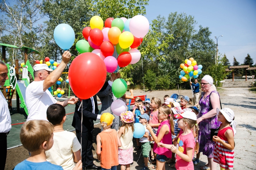
[(0, 169), (5, 169), (7, 155), (7, 135), (6, 133), (0, 133)]

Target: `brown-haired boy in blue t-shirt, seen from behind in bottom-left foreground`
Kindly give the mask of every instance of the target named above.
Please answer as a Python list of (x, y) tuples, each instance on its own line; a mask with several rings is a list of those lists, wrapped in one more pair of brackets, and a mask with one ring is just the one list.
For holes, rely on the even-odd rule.
[[(15, 166), (14, 170), (63, 170), (59, 165), (46, 161), (45, 152), (53, 146), (53, 125), (46, 120), (26, 121), (21, 127), (20, 140), (30, 157)], [(81, 160), (73, 170), (81, 170)]]

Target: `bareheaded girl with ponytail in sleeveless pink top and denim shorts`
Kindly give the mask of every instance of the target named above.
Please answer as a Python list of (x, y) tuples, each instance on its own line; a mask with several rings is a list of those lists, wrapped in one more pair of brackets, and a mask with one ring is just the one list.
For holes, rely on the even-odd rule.
[(161, 120), (161, 123), (156, 135), (153, 133), (150, 124), (147, 124), (146, 128), (152, 135), (152, 137), (148, 137), (148, 140), (155, 141), (153, 151), (157, 154), (156, 169), (161, 170), (165, 167), (166, 159), (172, 157), (172, 152), (169, 149), (157, 146), (159, 142), (166, 144), (172, 143), (171, 135), (174, 135), (174, 122), (171, 117), (171, 109), (168, 106), (161, 106), (158, 110), (158, 119)]

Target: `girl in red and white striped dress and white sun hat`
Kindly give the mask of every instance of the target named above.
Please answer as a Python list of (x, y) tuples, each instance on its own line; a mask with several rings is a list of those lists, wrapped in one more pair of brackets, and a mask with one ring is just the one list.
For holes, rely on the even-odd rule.
[(234, 164), (234, 134), (236, 134), (235, 114), (230, 108), (217, 108), (220, 124), (218, 136), (213, 136), (213, 161), (220, 165), (220, 170), (233, 170)]

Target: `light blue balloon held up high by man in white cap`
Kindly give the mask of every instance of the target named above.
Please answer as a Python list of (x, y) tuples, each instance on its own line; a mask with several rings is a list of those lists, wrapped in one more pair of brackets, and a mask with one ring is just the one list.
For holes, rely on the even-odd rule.
[(68, 50), (75, 42), (75, 32), (68, 24), (59, 24), (53, 32), (56, 44), (63, 50)]

